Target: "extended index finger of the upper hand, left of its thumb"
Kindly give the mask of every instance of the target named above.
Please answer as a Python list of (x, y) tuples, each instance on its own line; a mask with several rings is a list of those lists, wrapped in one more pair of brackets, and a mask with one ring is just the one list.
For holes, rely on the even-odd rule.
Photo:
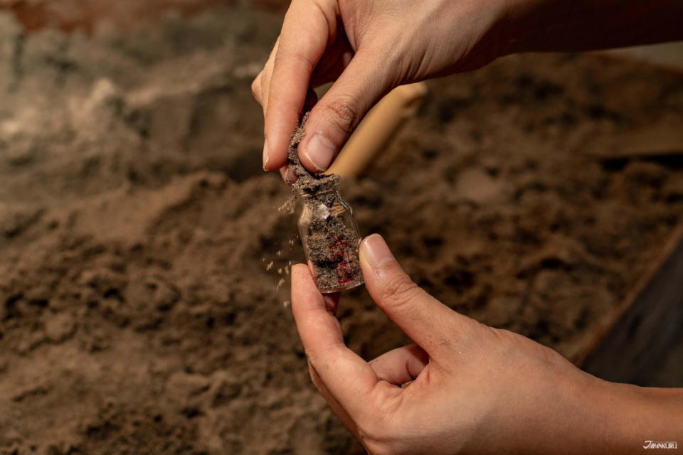
[(337, 33), (337, 11), (331, 4), (292, 1), (280, 33), (280, 45), (270, 79), (265, 137), (268, 143), (266, 170), (287, 164), (290, 137), (299, 122), (311, 75), (330, 38)]

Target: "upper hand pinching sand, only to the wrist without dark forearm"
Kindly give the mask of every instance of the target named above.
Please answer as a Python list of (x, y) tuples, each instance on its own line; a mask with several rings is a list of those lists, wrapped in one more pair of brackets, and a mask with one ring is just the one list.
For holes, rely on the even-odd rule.
[[(252, 90), (263, 107), (263, 168), (299, 145), (309, 171), (329, 168), (369, 109), (398, 85), (480, 68), (502, 52), (504, 0), (293, 0)], [(336, 81), (317, 100), (311, 87)]]

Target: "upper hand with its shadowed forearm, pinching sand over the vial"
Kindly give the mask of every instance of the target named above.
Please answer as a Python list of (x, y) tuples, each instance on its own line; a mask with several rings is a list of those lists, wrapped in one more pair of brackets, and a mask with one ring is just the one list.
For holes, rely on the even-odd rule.
[[(252, 85), (265, 118), (263, 168), (285, 176), (287, 146), (305, 107), (312, 110), (299, 154), (321, 172), (398, 85), (515, 52), (677, 39), (683, 0), (293, 0)], [(317, 100), (311, 88), (332, 81)]]

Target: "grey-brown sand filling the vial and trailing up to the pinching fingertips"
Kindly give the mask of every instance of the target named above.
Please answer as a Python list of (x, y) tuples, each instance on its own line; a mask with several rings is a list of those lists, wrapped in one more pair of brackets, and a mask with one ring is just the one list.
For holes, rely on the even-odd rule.
[(301, 164), (298, 146), (307, 118), (305, 114), (292, 134), (288, 166), (297, 177), (292, 188), (302, 205), (297, 224), (306, 259), (319, 291), (329, 294), (364, 283), (358, 257), (361, 239), (351, 208), (337, 189), (342, 177), (312, 173)]

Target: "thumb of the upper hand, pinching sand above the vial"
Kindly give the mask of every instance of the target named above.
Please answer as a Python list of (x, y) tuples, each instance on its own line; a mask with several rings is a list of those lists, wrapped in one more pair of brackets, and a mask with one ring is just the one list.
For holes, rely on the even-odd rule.
[(311, 110), (306, 137), (299, 145), (302, 164), (324, 172), (370, 108), (388, 92), (384, 65), (370, 51), (354, 55), (337, 82)]

